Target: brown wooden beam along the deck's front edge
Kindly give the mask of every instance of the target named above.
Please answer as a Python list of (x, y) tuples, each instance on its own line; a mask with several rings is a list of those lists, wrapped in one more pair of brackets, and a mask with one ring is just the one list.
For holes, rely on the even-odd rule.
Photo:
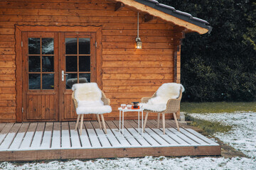
[(201, 147), (127, 147), (102, 149), (52, 149), (0, 152), (0, 161), (34, 161), (43, 159), (95, 159), (112, 157), (181, 157), (220, 155), (220, 146)]

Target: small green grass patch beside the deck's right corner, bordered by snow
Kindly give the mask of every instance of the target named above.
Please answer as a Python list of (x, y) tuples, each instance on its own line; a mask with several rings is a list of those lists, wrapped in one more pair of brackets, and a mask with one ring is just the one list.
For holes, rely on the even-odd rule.
[(207, 135), (213, 135), (215, 132), (228, 132), (232, 128), (232, 126), (229, 125), (221, 125), (220, 123), (213, 123), (207, 120), (193, 118), (191, 115), (188, 114), (186, 114), (186, 121), (188, 121), (188, 125), (200, 128), (201, 130), (206, 132)]

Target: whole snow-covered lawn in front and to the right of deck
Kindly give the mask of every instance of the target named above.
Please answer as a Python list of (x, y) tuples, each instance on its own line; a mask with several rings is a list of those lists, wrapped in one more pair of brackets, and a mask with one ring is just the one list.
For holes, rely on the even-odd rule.
[(0, 169), (256, 169), (256, 113), (191, 114), (204, 120), (232, 125), (226, 133), (216, 133), (223, 142), (240, 150), (250, 158), (234, 157), (144, 157), (96, 159), (90, 161), (12, 164), (2, 162)]

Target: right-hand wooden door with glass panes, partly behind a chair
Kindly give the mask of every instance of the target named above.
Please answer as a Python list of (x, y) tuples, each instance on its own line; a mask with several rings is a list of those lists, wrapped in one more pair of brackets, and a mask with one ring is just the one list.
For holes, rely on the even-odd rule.
[[(61, 70), (64, 78), (60, 81), (60, 120), (78, 118), (72, 101), (73, 84), (96, 81), (95, 33), (60, 33)], [(91, 120), (92, 115), (85, 115)]]

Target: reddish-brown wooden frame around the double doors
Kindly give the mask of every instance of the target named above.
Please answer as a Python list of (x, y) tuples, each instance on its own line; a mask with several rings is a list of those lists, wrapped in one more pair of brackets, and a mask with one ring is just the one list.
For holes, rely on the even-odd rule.
[(15, 25), (16, 52), (16, 122), (23, 120), (23, 47), (22, 32), (88, 32), (96, 33), (96, 82), (102, 89), (102, 26), (18, 26)]

